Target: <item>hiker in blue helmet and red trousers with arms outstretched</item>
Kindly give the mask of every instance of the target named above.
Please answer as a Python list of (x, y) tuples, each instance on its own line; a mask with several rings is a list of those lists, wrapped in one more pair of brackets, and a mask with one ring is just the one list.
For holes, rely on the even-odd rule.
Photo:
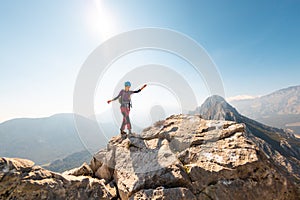
[(138, 90), (132, 91), (130, 90), (131, 87), (131, 83), (129, 81), (125, 82), (125, 89), (121, 90), (119, 92), (119, 95), (116, 96), (115, 98), (108, 100), (107, 103), (109, 104), (112, 101), (115, 101), (117, 99), (119, 99), (119, 102), (121, 104), (121, 113), (123, 115), (123, 122), (120, 128), (120, 133), (121, 135), (125, 135), (126, 132), (125, 130), (125, 126), (127, 126), (128, 129), (128, 133), (131, 134), (131, 123), (130, 123), (130, 118), (129, 118), (129, 112), (130, 112), (130, 107), (131, 107), (131, 95), (134, 93), (139, 93), (140, 91), (142, 91), (147, 85), (143, 85), (143, 87), (141, 87)]

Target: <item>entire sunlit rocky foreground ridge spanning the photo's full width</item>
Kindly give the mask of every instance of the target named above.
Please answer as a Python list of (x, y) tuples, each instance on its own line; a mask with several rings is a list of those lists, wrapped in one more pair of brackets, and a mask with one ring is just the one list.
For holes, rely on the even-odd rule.
[(247, 125), (200, 115), (173, 115), (140, 134), (115, 136), (89, 165), (63, 174), (2, 158), (0, 180), (0, 199), (267, 200), (300, 194), (297, 176), (269, 159)]

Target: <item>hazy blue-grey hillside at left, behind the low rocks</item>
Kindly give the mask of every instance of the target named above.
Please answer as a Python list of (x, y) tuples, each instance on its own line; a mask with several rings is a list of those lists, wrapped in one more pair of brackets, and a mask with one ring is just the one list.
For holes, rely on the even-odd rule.
[[(98, 136), (99, 140), (95, 140), (91, 134), (98, 130), (96, 122), (80, 116), (78, 119), (80, 125), (86, 127), (80, 136), (85, 140), (94, 141), (94, 151), (105, 145), (104, 136), (102, 139)], [(85, 150), (73, 114), (9, 120), (0, 124), (0, 138), (1, 156), (27, 158), (39, 165)]]

